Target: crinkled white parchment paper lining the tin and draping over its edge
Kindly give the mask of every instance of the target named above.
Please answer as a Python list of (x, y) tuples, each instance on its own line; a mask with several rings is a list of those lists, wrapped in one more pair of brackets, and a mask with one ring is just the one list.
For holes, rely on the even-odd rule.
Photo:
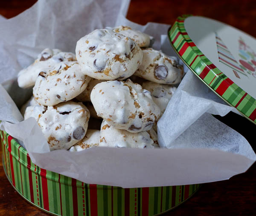
[[(169, 25), (140, 26), (125, 18), (129, 1), (39, 0), (9, 20), (0, 19), (0, 129), (24, 144), (32, 162), (90, 184), (123, 188), (186, 185), (229, 179), (256, 160), (250, 144), (211, 114), (236, 111), (188, 71), (158, 123), (160, 149), (90, 148), (49, 151), (33, 118), (17, 106), (31, 94), (17, 87), (17, 73), (46, 47), (75, 51), (76, 41), (96, 28), (129, 25), (155, 37), (155, 49), (174, 51)], [(171, 23), (170, 23), (171, 24)], [(14, 99), (15, 103), (12, 101)]]

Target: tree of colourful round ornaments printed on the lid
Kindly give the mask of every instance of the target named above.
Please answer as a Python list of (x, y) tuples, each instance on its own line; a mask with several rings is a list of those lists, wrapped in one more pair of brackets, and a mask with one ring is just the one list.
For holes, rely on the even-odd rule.
[(247, 72), (247, 74), (256, 78), (256, 54), (253, 49), (248, 46), (242, 37), (239, 37), (239, 60), (240, 67)]

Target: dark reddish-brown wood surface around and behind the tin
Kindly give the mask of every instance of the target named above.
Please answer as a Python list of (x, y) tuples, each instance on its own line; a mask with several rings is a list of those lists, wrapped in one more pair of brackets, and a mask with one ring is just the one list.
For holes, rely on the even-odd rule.
[[(32, 6), (35, 0), (0, 1), (0, 14), (11, 18)], [(128, 19), (136, 23), (147, 22), (172, 24), (181, 14), (206, 16), (228, 23), (256, 37), (256, 3), (250, 1), (171, 1), (131, 0)], [(0, 33), (1, 34), (1, 33)], [(239, 131), (253, 146), (256, 143), (252, 131), (256, 126), (236, 114), (217, 117)], [(2, 155), (2, 151), (0, 151)], [(256, 164), (246, 172), (229, 180), (202, 185), (187, 202), (165, 216), (255, 216), (256, 215)], [(8, 182), (0, 161), (0, 216), (48, 216), (49, 214), (30, 205)]]

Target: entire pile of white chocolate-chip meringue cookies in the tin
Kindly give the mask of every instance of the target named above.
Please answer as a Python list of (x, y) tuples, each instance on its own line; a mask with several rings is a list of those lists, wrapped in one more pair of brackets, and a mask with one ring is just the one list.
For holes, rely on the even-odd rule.
[[(76, 55), (45, 49), (18, 74), (33, 96), (21, 108), (34, 117), (50, 150), (96, 146), (158, 148), (157, 121), (181, 81), (176, 57), (149, 48), (152, 37), (128, 26), (97, 29)], [(88, 127), (93, 119), (100, 128)]]

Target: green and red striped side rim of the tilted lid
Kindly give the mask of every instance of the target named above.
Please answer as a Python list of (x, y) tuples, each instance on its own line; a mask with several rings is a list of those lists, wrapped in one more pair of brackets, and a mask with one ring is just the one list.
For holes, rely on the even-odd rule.
[(256, 100), (212, 64), (192, 42), (184, 27), (184, 20), (189, 16), (191, 15), (178, 17), (169, 28), (168, 35), (172, 47), (191, 71), (212, 91), (256, 124)]

